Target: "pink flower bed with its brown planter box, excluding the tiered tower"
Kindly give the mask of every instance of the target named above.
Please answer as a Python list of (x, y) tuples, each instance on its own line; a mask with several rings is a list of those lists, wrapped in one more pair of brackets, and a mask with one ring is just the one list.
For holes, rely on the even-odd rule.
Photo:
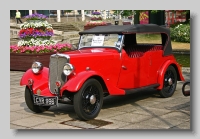
[(71, 51), (71, 44), (56, 44), (50, 46), (10, 46), (10, 70), (26, 71), (34, 61), (43, 66), (49, 66), (50, 56), (56, 52)]

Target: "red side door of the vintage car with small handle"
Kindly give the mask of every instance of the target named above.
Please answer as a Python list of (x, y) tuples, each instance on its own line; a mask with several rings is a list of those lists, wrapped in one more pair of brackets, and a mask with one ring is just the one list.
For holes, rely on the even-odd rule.
[(146, 86), (147, 68), (146, 56), (130, 57), (122, 50), (122, 65), (118, 80), (118, 88), (132, 89)]

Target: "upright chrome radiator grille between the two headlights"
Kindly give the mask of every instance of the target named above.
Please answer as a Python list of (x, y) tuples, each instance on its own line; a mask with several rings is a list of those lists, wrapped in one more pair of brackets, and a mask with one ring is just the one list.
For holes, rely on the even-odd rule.
[(63, 67), (65, 63), (69, 63), (69, 56), (64, 54), (53, 54), (50, 57), (49, 63), (49, 89), (51, 93), (57, 94), (56, 81), (61, 82), (61, 87), (67, 80), (63, 74)]

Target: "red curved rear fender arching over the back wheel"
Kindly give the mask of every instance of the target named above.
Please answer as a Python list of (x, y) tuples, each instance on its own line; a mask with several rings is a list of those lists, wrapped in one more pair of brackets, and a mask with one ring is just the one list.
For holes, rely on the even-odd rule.
[(163, 80), (164, 80), (164, 76), (165, 76), (165, 72), (167, 71), (167, 68), (172, 65), (176, 72), (177, 72), (177, 78), (181, 81), (185, 81), (183, 75), (182, 75), (182, 71), (180, 69), (180, 66), (178, 63), (174, 62), (173, 60), (168, 60), (166, 61), (162, 67), (160, 68), (160, 70), (158, 71), (158, 83), (160, 84), (160, 86), (157, 89), (162, 89), (163, 88)]

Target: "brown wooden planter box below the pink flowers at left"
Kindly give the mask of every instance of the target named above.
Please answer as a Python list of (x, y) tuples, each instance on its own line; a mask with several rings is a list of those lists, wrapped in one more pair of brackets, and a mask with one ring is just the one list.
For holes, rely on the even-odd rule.
[(26, 54), (26, 53), (10, 53), (10, 70), (26, 71), (31, 68), (34, 61), (39, 61), (44, 67), (49, 67), (50, 56), (54, 54)]

